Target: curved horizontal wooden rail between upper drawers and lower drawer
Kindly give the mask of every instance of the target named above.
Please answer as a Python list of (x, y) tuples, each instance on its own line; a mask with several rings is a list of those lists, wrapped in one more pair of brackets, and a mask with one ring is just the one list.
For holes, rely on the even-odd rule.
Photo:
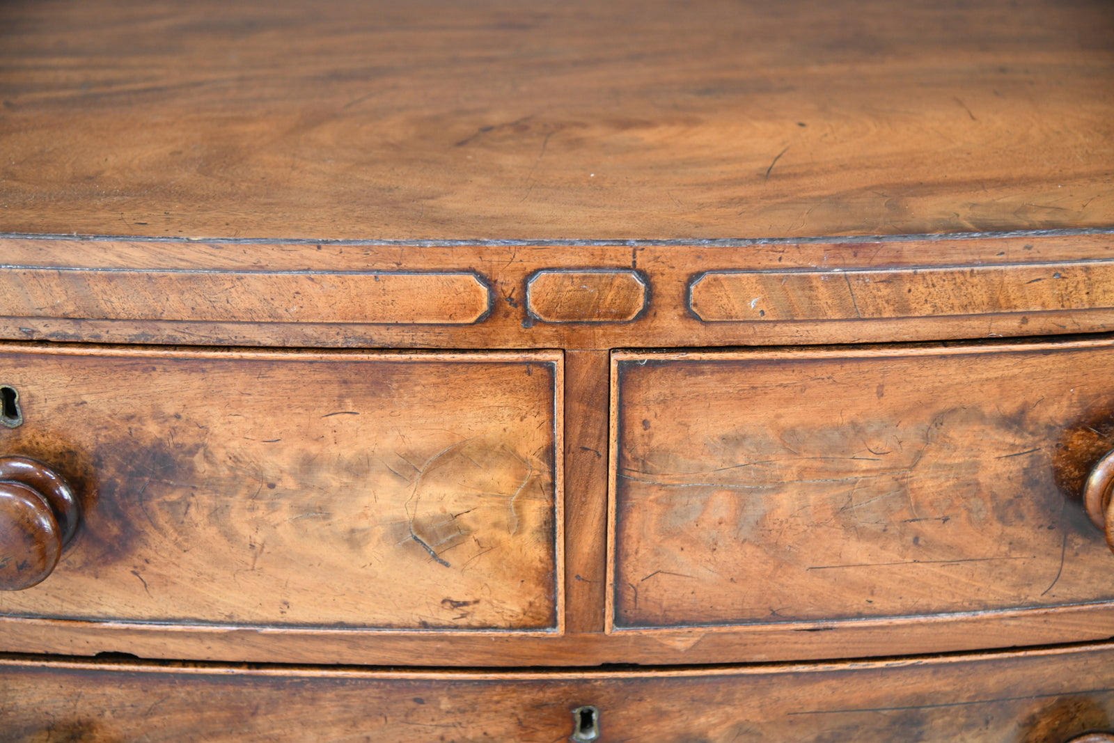
[[(574, 616), (598, 613), (576, 607)], [(578, 619), (579, 620), (579, 619)], [(603, 618), (599, 618), (603, 626)], [(152, 625), (0, 617), (0, 649), (92, 656), (389, 666), (723, 664), (887, 657), (1106, 641), (1114, 605), (1059, 606), (856, 622), (592, 632), (367, 632), (344, 628)]]

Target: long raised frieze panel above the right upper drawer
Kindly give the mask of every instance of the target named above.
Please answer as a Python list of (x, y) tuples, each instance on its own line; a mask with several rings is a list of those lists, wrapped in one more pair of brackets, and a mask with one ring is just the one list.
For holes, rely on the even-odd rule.
[(849, 271), (710, 271), (688, 290), (704, 322), (874, 320), (1114, 307), (1114, 263)]

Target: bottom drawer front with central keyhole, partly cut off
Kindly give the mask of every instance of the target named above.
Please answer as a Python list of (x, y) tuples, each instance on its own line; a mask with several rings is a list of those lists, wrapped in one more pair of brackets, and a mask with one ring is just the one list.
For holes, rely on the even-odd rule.
[(824, 665), (556, 673), (0, 656), (6, 741), (1065, 743), (1110, 731), (1112, 720), (1112, 644)]

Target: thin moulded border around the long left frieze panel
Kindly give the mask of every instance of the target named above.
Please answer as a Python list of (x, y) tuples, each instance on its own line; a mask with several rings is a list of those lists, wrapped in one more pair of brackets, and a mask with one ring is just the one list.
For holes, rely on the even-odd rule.
[[(330, 319), (328, 315), (310, 319), (255, 319), (255, 317), (218, 317), (218, 319), (197, 319), (197, 317), (170, 317), (165, 319), (156, 316), (154, 314), (141, 314), (137, 316), (125, 316), (125, 317), (113, 317), (113, 316), (88, 316), (92, 313), (90, 312), (71, 312), (70, 314), (50, 314), (49, 312), (43, 313), (18, 313), (18, 314), (0, 314), (8, 317), (27, 317), (27, 319), (51, 319), (51, 320), (107, 320), (117, 322), (166, 322), (166, 323), (214, 323), (222, 325), (237, 325), (237, 324), (284, 324), (284, 323), (299, 323), (299, 324), (338, 324), (338, 325), (421, 325), (421, 326), (468, 326), (477, 325), (486, 321), (491, 316), (491, 313), (496, 307), (496, 292), (490, 278), (472, 270), (459, 270), (459, 271), (351, 271), (351, 270), (336, 270), (336, 271), (322, 271), (322, 270), (286, 270), (286, 271), (272, 271), (272, 270), (238, 270), (238, 268), (183, 268), (183, 267), (162, 267), (162, 268), (141, 268), (141, 267), (86, 267), (86, 266), (57, 266), (57, 265), (22, 265), (22, 264), (0, 264), (0, 280), (3, 278), (3, 274), (8, 272), (33, 272), (36, 274), (48, 275), (50, 273), (57, 273), (59, 275), (68, 275), (70, 277), (81, 276), (82, 274), (87, 276), (102, 276), (102, 275), (129, 275), (135, 276), (137, 280), (152, 281), (154, 278), (163, 276), (176, 276), (176, 277), (188, 277), (188, 276), (203, 276), (203, 277), (223, 277), (228, 281), (244, 281), (251, 278), (276, 278), (276, 277), (305, 277), (309, 281), (315, 281), (317, 278), (329, 278), (331, 276), (342, 277), (342, 278), (367, 278), (374, 283), (380, 281), (380, 277), (402, 277), (408, 280), (421, 280), (429, 278), (432, 281), (438, 280), (460, 280), (460, 278), (471, 278), (476, 282), (478, 291), (482, 292), (485, 300), (481, 301), (482, 306), (477, 306), (475, 317), (463, 322), (450, 321), (440, 317), (430, 317), (421, 320), (375, 320), (374, 317), (355, 317), (355, 319)], [(353, 292), (348, 292), (352, 294)], [(176, 295), (180, 292), (176, 292)], [(92, 296), (89, 301), (96, 303), (98, 297)], [(108, 302), (113, 304), (113, 302)], [(40, 307), (41, 309), (41, 307)], [(250, 310), (250, 307), (248, 307)], [(246, 311), (244, 314), (247, 314)]]

